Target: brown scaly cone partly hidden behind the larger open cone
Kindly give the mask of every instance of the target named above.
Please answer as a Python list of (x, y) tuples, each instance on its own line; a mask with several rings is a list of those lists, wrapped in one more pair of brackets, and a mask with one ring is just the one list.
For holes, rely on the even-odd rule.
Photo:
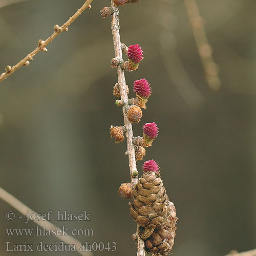
[(148, 255), (167, 255), (174, 245), (175, 224), (177, 221), (176, 209), (172, 202), (168, 202), (169, 217), (164, 224), (156, 227), (152, 235), (146, 239), (145, 250)]

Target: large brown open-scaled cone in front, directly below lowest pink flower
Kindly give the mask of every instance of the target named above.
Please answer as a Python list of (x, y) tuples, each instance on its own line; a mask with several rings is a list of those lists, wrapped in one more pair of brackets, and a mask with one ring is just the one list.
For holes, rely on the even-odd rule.
[(144, 173), (132, 191), (131, 216), (142, 228), (142, 239), (150, 237), (169, 216), (168, 197), (158, 172)]

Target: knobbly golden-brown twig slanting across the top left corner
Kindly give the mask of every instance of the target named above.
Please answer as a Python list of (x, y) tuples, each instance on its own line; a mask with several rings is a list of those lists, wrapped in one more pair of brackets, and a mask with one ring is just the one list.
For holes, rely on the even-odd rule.
[[(38, 44), (38, 46), (31, 52), (29, 53), (24, 59), (20, 60), (15, 66), (10, 67), (6, 66), (6, 72), (2, 73), (0, 75), (0, 82), (6, 79), (8, 76), (10, 76), (13, 72), (15, 72), (17, 69), (19, 69), (22, 66), (28, 66), (29, 61), (33, 59), (33, 57), (40, 51), (47, 51), (46, 46), (50, 44), (50, 42), (58, 36), (61, 32), (67, 31), (69, 25), (75, 21), (75, 19), (86, 9), (91, 8), (91, 3), (93, 0), (87, 0), (80, 9), (77, 10), (77, 12), (70, 17), (66, 23), (64, 23), (61, 27), (57, 27), (54, 31), (54, 33), (49, 36), (45, 41), (42, 41), (41, 44)], [(55, 27), (55, 26), (54, 26)], [(39, 42), (39, 41), (38, 41)]]

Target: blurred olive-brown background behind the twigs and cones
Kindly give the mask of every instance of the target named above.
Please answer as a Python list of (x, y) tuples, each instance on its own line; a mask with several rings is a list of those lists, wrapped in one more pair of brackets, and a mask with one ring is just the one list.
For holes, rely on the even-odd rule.
[[(1, 8), (2, 72), (82, 4), (29, 0)], [(128, 202), (118, 195), (119, 185), (130, 180), (126, 143), (115, 144), (109, 134), (110, 125), (122, 125), (123, 117), (112, 95), (117, 74), (110, 67), (111, 18), (99, 13), (108, 5), (108, 0), (94, 1), (47, 53), (1, 82), (0, 186), (39, 213), (53, 210), (55, 225), (93, 229), (94, 237), (76, 237), (82, 243), (117, 243), (116, 251), (96, 251), (95, 256), (130, 256), (137, 251), (131, 239), (136, 225)], [(218, 91), (205, 79), (183, 1), (141, 0), (120, 8), (121, 38), (144, 49), (139, 69), (125, 76), (130, 89), (141, 78), (153, 88), (142, 121), (133, 127), (137, 136), (144, 122), (159, 126), (144, 160), (159, 162), (176, 205), (173, 253), (221, 256), (256, 247), (256, 2), (198, 0), (198, 6), (220, 69)], [(8, 237), (5, 228), (35, 224), (7, 221), (5, 214), (13, 208), (2, 200), (0, 205), (1, 255), (78, 255), (6, 252), (8, 241), (59, 240)], [(57, 210), (87, 210), (91, 221), (56, 221)]]

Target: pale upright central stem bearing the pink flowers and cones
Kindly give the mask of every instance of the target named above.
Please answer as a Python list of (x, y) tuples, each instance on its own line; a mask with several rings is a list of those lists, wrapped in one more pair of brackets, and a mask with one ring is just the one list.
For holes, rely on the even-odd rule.
[[(111, 7), (114, 10), (114, 13), (112, 14), (112, 23), (111, 23), (111, 29), (113, 34), (113, 40), (114, 40), (114, 49), (115, 49), (115, 57), (119, 58), (121, 61), (123, 61), (122, 58), (122, 45), (120, 40), (120, 25), (119, 25), (119, 11), (117, 6), (114, 5), (113, 0), (111, 0)], [(130, 175), (131, 175), (131, 181), (136, 184), (138, 182), (138, 176), (133, 177), (132, 173), (137, 170), (136, 160), (135, 160), (135, 149), (133, 146), (133, 128), (132, 124), (128, 120), (126, 116), (126, 110), (129, 106), (128, 104), (128, 95), (126, 90), (126, 82), (124, 77), (124, 71), (120, 67), (120, 65), (117, 66), (117, 76), (118, 76), (118, 83), (120, 88), (120, 96), (121, 100), (123, 100), (124, 104), (122, 106), (123, 111), (123, 119), (124, 119), (124, 126), (126, 127), (126, 141), (127, 141), (127, 154), (129, 157), (129, 167), (130, 167)], [(139, 225), (137, 225), (137, 233), (138, 233)], [(138, 252), (137, 256), (145, 256), (144, 251), (144, 242), (138, 238)]]

